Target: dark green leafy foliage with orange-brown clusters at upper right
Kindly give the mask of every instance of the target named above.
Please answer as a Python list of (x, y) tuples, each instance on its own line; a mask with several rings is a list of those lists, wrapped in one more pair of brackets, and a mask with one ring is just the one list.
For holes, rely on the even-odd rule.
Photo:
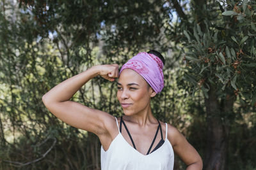
[(205, 97), (214, 87), (220, 99), (239, 96), (242, 104), (250, 103), (247, 106), (252, 107), (256, 101), (255, 3), (243, 1), (225, 6), (232, 11), (222, 13), (215, 8), (208, 13), (217, 13), (216, 18), (195, 23), (193, 32), (184, 30), (189, 43), (184, 44), (189, 73), (186, 79), (193, 83), (194, 91), (202, 90)]

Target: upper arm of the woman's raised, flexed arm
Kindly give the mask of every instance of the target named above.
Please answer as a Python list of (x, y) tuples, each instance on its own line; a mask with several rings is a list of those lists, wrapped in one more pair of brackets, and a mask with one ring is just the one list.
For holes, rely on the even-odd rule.
[(101, 134), (107, 131), (104, 126), (104, 120), (112, 117), (104, 111), (88, 108), (74, 101), (45, 103), (45, 106), (63, 122), (94, 134)]

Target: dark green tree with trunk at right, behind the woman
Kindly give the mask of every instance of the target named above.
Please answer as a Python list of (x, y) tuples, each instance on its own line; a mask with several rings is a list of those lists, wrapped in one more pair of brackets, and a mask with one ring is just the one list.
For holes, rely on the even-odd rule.
[[(172, 2), (174, 6), (176, 1)], [(187, 15), (177, 12), (181, 20), (177, 26), (184, 36), (179, 42), (186, 46), (185, 78), (193, 85), (193, 94), (202, 90), (205, 97), (204, 169), (226, 169), (230, 125), (239, 111), (255, 111), (255, 1), (195, 0), (191, 4)]]

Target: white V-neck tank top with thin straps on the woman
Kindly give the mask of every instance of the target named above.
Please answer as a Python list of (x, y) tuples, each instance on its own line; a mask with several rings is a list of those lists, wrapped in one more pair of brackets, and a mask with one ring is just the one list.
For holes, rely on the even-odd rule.
[(118, 135), (113, 139), (107, 151), (101, 146), (100, 162), (101, 170), (172, 170), (174, 153), (170, 141), (166, 135), (163, 145), (148, 155), (143, 155), (134, 149), (120, 133), (118, 122)]

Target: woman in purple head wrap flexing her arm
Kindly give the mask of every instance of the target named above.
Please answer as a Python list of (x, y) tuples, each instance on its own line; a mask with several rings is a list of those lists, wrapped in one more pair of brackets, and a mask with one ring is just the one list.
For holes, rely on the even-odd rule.
[[(164, 87), (163, 64), (161, 53), (151, 50), (132, 57), (120, 73), (117, 64), (93, 66), (56, 85), (42, 100), (56, 117), (99, 137), (103, 170), (173, 169), (173, 151), (187, 169), (202, 169), (200, 155), (184, 136), (152, 115), (150, 100)], [(69, 101), (87, 81), (98, 75), (109, 81), (118, 78), (117, 98), (124, 110), (123, 117), (115, 118)]]

